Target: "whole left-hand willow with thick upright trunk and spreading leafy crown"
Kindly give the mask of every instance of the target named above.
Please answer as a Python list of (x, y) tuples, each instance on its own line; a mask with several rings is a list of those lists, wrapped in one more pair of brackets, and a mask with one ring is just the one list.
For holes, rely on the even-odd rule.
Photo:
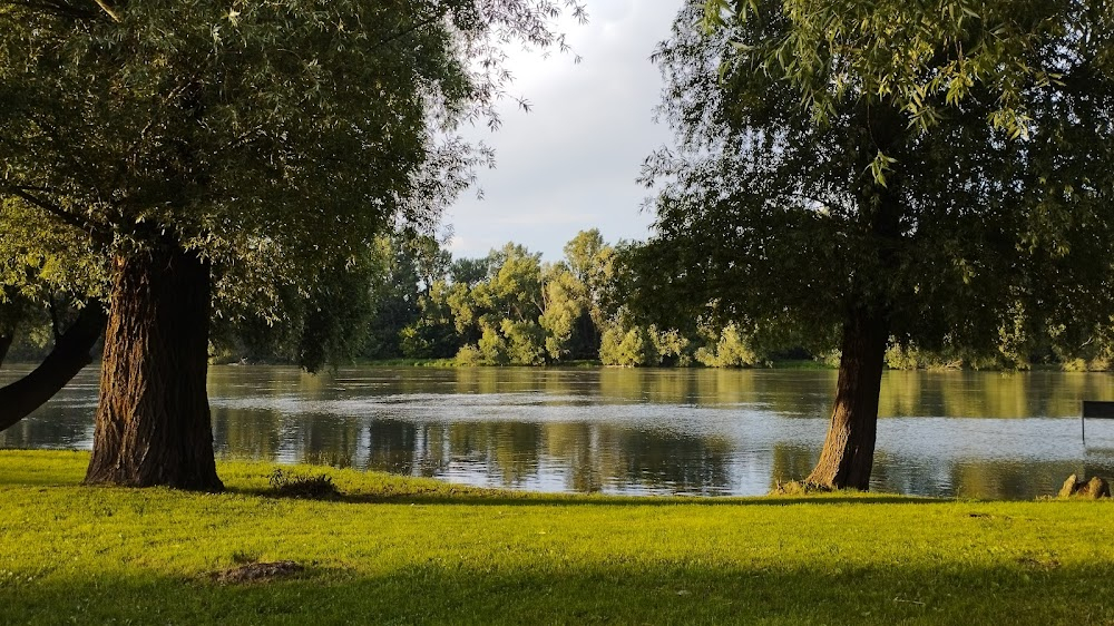
[[(499, 41), (573, 2), (0, 2), (0, 194), (97, 242), (108, 327), (86, 480), (218, 489), (211, 313), (282, 315), (483, 159)], [(213, 310), (214, 302), (217, 310)]]

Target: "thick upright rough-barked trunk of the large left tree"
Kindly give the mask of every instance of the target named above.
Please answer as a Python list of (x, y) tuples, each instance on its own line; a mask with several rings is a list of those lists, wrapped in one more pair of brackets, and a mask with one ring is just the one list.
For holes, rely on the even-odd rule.
[(86, 482), (224, 488), (205, 392), (211, 284), (173, 245), (116, 258)]

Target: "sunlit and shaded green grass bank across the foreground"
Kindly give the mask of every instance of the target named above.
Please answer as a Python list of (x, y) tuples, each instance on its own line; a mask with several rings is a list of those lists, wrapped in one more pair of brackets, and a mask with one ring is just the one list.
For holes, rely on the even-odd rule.
[[(1110, 502), (508, 493), (324, 468), (336, 500), (81, 487), (0, 452), (2, 624), (1114, 624)], [(213, 573), (293, 560), (291, 578)]]

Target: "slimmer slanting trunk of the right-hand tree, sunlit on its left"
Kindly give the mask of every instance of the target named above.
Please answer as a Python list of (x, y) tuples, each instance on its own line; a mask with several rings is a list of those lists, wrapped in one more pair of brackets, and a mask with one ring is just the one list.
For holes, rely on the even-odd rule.
[(836, 404), (820, 461), (804, 481), (829, 489), (870, 488), (889, 331), (877, 315), (859, 310), (843, 324)]

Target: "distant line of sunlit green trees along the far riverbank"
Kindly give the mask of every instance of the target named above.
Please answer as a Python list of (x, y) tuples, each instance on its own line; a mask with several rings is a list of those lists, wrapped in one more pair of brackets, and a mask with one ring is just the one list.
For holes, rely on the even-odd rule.
[[(334, 285), (326, 307), (333, 329), (300, 329), (297, 341), (281, 323), (217, 323), (217, 362), (301, 362), (306, 351), (334, 362), (352, 360), (448, 360), (459, 365), (558, 365), (597, 361), (620, 366), (766, 366), (811, 360), (838, 365), (838, 352), (810, 350), (808, 338), (784, 329), (693, 320), (666, 327), (635, 315), (620, 261), (637, 244), (604, 242), (597, 229), (577, 234), (563, 260), (548, 263), (508, 243), (482, 258), (457, 258), (430, 236), (381, 237), (362, 272), (370, 284)], [(309, 319), (313, 319), (314, 311)], [(219, 322), (219, 320), (218, 320)], [(676, 326), (674, 324), (673, 326)], [(1006, 336), (1006, 335), (1004, 335)], [(1105, 370), (1108, 343), (1097, 341), (1091, 359), (1061, 359), (1053, 338), (1004, 340), (996, 354), (891, 348), (891, 369), (1027, 369), (1049, 364)]]

